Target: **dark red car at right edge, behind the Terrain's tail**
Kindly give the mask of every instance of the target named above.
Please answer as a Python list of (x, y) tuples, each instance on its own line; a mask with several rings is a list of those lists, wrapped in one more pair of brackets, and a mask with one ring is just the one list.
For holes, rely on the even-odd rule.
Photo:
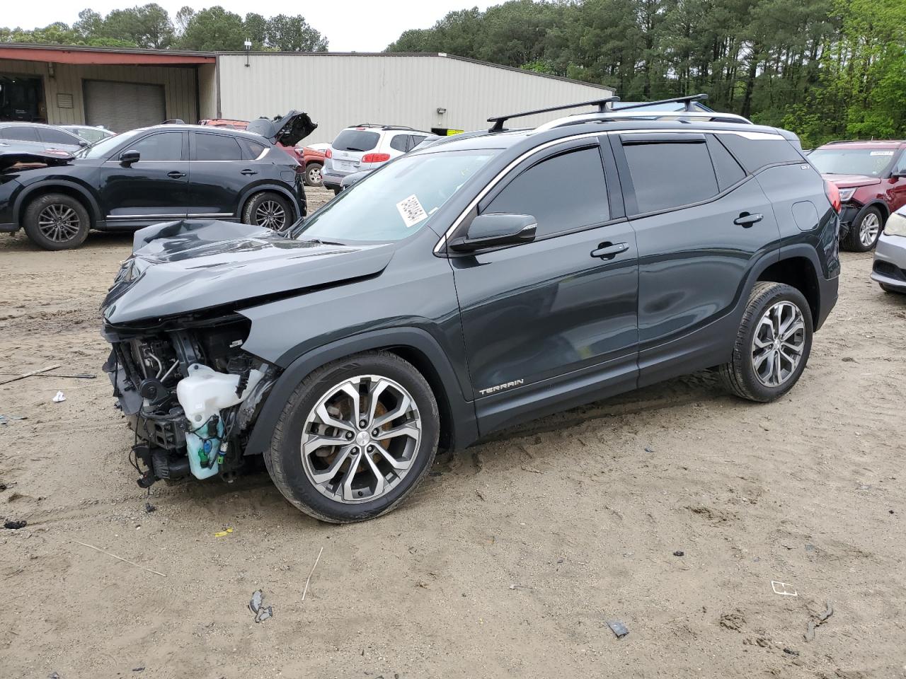
[(832, 141), (808, 159), (840, 189), (840, 243), (871, 250), (887, 217), (906, 205), (906, 141)]

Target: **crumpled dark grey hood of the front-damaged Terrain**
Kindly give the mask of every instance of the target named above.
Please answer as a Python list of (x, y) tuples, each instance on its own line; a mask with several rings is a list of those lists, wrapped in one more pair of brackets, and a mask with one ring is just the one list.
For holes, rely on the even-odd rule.
[(297, 241), (258, 226), (179, 220), (141, 229), (101, 305), (113, 325), (381, 273), (390, 244)]

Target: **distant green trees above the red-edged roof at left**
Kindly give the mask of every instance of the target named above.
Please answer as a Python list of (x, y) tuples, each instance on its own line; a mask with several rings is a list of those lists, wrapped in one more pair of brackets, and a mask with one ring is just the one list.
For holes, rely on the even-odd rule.
[(34, 30), (0, 28), (0, 43), (228, 52), (243, 49), (246, 40), (251, 41), (255, 50), (327, 51), (327, 39), (302, 15), (278, 14), (265, 18), (249, 13), (242, 17), (219, 5), (198, 12), (185, 6), (173, 19), (156, 3), (113, 10), (106, 16), (84, 9), (72, 25), (56, 22)]

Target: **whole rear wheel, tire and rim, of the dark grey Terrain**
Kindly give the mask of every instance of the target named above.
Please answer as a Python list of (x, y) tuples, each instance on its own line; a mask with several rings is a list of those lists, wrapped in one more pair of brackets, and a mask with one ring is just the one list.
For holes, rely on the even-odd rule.
[(805, 370), (812, 350), (812, 311), (802, 292), (757, 282), (739, 324), (733, 356), (719, 372), (737, 397), (766, 403), (782, 397)]

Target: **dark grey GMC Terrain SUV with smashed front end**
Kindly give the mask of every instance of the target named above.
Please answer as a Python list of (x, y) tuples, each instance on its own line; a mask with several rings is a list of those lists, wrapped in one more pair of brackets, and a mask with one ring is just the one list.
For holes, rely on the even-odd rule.
[(793, 134), (496, 129), (398, 158), (280, 234), (137, 234), (103, 334), (140, 484), (264, 454), (296, 507), (361, 521), (439, 445), (704, 368), (753, 401), (793, 387), (840, 272)]

